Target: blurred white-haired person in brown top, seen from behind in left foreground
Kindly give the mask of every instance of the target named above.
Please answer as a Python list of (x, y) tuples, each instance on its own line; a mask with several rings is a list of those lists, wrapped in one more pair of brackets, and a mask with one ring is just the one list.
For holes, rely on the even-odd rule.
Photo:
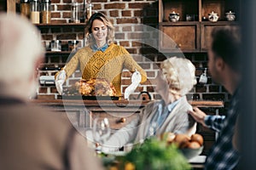
[(28, 102), (44, 48), (36, 27), (0, 14), (0, 169), (102, 169), (67, 115)]

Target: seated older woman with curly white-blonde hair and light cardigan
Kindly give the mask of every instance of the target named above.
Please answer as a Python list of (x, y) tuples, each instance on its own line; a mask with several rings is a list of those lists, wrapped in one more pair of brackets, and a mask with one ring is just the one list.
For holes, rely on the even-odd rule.
[(185, 96), (196, 84), (195, 66), (189, 59), (166, 59), (160, 65), (155, 82), (155, 90), (162, 99), (146, 105), (136, 120), (104, 143), (103, 149), (120, 148), (166, 132), (195, 133), (196, 123), (187, 113), (192, 107)]

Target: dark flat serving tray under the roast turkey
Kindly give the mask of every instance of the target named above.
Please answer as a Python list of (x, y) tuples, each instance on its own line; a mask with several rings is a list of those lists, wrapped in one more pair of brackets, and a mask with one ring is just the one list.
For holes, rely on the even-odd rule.
[(57, 99), (119, 100), (119, 96), (58, 95)]

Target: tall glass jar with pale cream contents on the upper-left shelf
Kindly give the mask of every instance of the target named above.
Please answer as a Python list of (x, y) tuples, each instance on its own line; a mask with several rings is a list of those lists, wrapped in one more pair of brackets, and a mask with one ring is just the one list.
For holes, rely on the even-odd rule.
[(30, 1), (30, 20), (33, 24), (40, 23), (40, 9), (38, 0)]

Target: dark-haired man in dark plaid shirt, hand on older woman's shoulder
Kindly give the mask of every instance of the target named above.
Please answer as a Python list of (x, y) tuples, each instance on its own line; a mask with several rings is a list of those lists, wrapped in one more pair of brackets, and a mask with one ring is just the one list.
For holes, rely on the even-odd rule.
[(219, 136), (209, 151), (205, 169), (234, 169), (240, 159), (237, 146), (232, 142), (239, 115), (240, 82), (241, 82), (241, 38), (238, 27), (225, 26), (212, 31), (212, 44), (208, 50), (208, 67), (212, 79), (226, 88), (232, 95), (230, 108), (226, 116), (207, 116), (203, 111), (194, 108), (189, 114), (195, 121), (201, 122), (219, 132)]

